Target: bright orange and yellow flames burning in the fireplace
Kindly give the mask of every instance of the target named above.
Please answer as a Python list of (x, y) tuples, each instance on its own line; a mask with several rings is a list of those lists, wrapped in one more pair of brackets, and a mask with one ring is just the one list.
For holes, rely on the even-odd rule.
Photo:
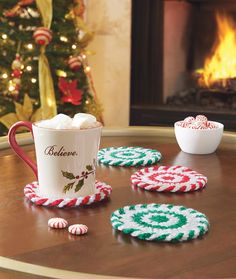
[(204, 68), (198, 71), (199, 85), (226, 87), (229, 79), (236, 77), (236, 28), (233, 19), (225, 13), (216, 13), (217, 40), (212, 54), (205, 62)]

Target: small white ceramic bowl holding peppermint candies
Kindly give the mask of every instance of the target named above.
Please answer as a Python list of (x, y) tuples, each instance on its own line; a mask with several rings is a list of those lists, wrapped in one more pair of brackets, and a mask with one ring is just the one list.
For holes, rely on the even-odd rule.
[(211, 121), (217, 128), (200, 130), (181, 127), (178, 122), (175, 123), (175, 137), (182, 151), (191, 154), (215, 152), (223, 135), (222, 123)]

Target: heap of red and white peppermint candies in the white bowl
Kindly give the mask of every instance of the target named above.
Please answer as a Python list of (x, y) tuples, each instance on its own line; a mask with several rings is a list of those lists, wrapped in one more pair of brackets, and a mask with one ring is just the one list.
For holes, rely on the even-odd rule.
[(217, 124), (212, 121), (208, 121), (205, 115), (197, 115), (195, 118), (192, 116), (186, 117), (182, 121), (176, 122), (176, 126), (181, 126), (183, 128), (189, 128), (194, 130), (204, 130), (204, 129), (216, 129)]

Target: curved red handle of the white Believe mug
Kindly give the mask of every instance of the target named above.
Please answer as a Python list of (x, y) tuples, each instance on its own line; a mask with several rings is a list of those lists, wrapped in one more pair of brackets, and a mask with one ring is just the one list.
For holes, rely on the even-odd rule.
[(38, 178), (38, 170), (36, 164), (26, 155), (26, 153), (20, 148), (20, 146), (16, 142), (16, 130), (20, 127), (26, 127), (30, 130), (32, 136), (33, 130), (32, 130), (32, 123), (28, 121), (19, 121), (16, 122), (14, 125), (11, 126), (9, 132), (8, 132), (8, 141), (10, 143), (10, 146), (12, 149), (16, 152), (16, 154), (23, 160), (25, 163), (31, 167), (33, 170), (35, 176)]

